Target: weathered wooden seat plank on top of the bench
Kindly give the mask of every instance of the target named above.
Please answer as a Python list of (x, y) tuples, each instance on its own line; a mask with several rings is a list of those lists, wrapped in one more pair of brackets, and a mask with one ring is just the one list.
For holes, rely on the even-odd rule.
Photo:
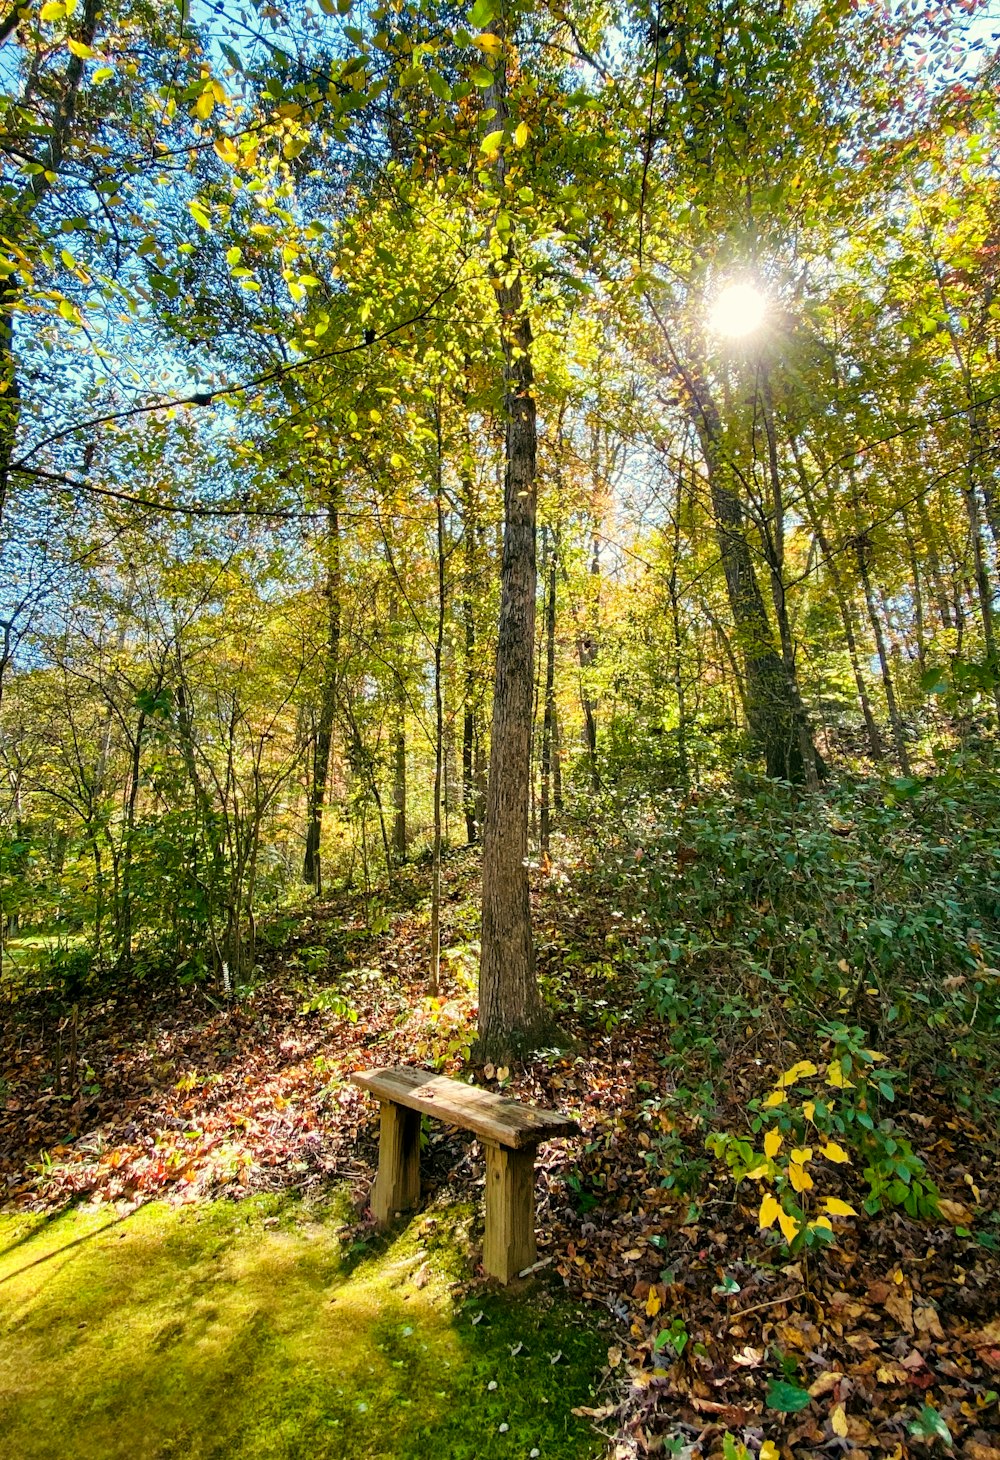
[(482, 1140), (511, 1150), (536, 1146), (553, 1136), (575, 1136), (580, 1126), (555, 1110), (539, 1110), (505, 1099), (492, 1091), (463, 1085), (445, 1075), (409, 1067), (356, 1070), (350, 1079), (380, 1101), (393, 1101), (423, 1115), (435, 1115), (447, 1126), (461, 1126)]

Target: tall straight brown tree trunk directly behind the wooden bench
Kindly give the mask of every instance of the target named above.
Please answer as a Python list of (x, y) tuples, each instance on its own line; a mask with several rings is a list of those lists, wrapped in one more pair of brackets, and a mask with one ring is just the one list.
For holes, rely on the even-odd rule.
[[(486, 105), (489, 127), (505, 126), (507, 35), (501, 20), (492, 32), (502, 45)], [(502, 194), (504, 152), (496, 180)], [(492, 264), (504, 347), (504, 552), (496, 638), (493, 726), (483, 829), (483, 921), (479, 967), (479, 1054), (505, 1057), (537, 1044), (547, 1029), (534, 972), (528, 889), (528, 788), (531, 778), (531, 698), (534, 689), (536, 453), (537, 422), (531, 369), (531, 324), (512, 248)]]

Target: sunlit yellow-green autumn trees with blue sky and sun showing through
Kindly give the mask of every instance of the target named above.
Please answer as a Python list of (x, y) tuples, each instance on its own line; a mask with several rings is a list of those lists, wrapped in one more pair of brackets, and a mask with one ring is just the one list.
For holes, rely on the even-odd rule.
[(0, 896), (45, 977), (231, 993), (269, 915), (426, 857), (436, 988), (482, 844), (502, 1054), (574, 826), (683, 856), (740, 777), (836, 832), (993, 765), (975, 0), (0, 29)]

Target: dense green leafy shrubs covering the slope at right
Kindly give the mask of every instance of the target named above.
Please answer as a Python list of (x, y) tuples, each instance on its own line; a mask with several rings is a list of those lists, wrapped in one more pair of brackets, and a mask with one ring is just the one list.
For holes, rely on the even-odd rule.
[(660, 807), (619, 842), (648, 927), (641, 988), (686, 1040), (718, 1006), (707, 972), (752, 991), (747, 1018), (807, 999), (949, 1040), (1000, 1029), (999, 816), (1000, 777), (962, 762), (804, 797), (737, 781)]

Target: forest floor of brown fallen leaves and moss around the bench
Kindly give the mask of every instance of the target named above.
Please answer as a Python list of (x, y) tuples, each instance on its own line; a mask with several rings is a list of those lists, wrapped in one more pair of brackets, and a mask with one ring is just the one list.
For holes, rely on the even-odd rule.
[[(93, 1283), (108, 1372), (117, 1372), (115, 1343), (127, 1345), (133, 1365), (146, 1355), (143, 1383), (159, 1386), (165, 1413), (175, 1406), (190, 1419), (204, 1406), (201, 1448), (190, 1435), (169, 1448), (168, 1426), (161, 1448), (128, 1454), (902, 1460), (953, 1448), (966, 1460), (1000, 1460), (996, 1107), (956, 1101), (933, 1063), (909, 1069), (895, 1120), (927, 1162), (943, 1215), (867, 1216), (863, 1187), (851, 1188), (853, 1171), (838, 1167), (848, 1183), (838, 1191), (854, 1196), (860, 1215), (836, 1222), (835, 1245), (793, 1260), (775, 1231), (758, 1226), (761, 1190), (737, 1187), (705, 1150), (711, 1132), (746, 1133), (750, 1099), (803, 1054), (780, 1018), (720, 1016), (715, 1048), (689, 1051), (679, 1072), (674, 1032), (644, 1009), (628, 931), (607, 898), (574, 888), (556, 869), (539, 879), (534, 915), (543, 983), (566, 1044), (476, 1077), (577, 1114), (584, 1134), (542, 1148), (545, 1267), (501, 1296), (474, 1266), (483, 1177), (476, 1143), (431, 1129), (423, 1213), (401, 1234), (375, 1238), (364, 1213), (375, 1108), (349, 1083), (352, 1070), (372, 1064), (463, 1067), (474, 1029), (472, 858), (447, 863), (438, 999), (426, 997), (426, 889), (415, 873), (388, 905), (339, 898), (289, 917), (260, 984), (238, 1002), (139, 986), (88, 1006), (73, 1098), (54, 1086), (69, 1038), (66, 1028), (58, 1035), (55, 1013), (44, 997), (7, 1007), (0, 1295), (9, 1285), (18, 1302), (0, 1317), (0, 1428), (15, 1405), (31, 1416), (26, 1460), (76, 1453), (45, 1450), (39, 1438), (54, 1413), (47, 1383), (57, 1394), (72, 1375), (79, 1403), (91, 1405), (88, 1424), (108, 1425), (115, 1412), (96, 1378), (91, 1400), (80, 1378), (98, 1352), (86, 1346), (92, 1317), (77, 1313)], [(457, 1226), (455, 1210), (466, 1213)], [(117, 1245), (115, 1223), (134, 1234), (130, 1242)], [(207, 1259), (199, 1231), (209, 1234)], [(229, 1253), (234, 1231), (239, 1241)], [(454, 1247), (457, 1267), (425, 1254), (434, 1231), (451, 1234), (438, 1250)], [(124, 1251), (139, 1256), (123, 1260)], [(77, 1299), (73, 1263), (83, 1254), (91, 1270)], [(39, 1272), (50, 1280), (36, 1292)], [(315, 1332), (304, 1314), (327, 1305), (339, 1285), (343, 1305), (339, 1298), (333, 1307), (347, 1315), (343, 1334), (340, 1318), (324, 1318)], [(139, 1304), (146, 1317), (134, 1320), (134, 1333), (128, 1318), (115, 1339), (108, 1314), (123, 1304)], [(425, 1308), (423, 1327), (403, 1315)], [(432, 1355), (426, 1375), (415, 1371), (420, 1396), (436, 1384), (431, 1371), (439, 1371), (434, 1353), (442, 1345), (448, 1362), (464, 1355), (466, 1368), (454, 1387), (431, 1390), (419, 1418), (397, 1424), (393, 1394), (418, 1403), (418, 1390), (393, 1378), (409, 1372), (391, 1337), (404, 1327)], [(479, 1348), (470, 1346), (473, 1330)], [(347, 1333), (372, 1362), (364, 1396), (339, 1381), (349, 1394), (342, 1403), (317, 1374)], [(15, 1356), (28, 1352), (26, 1342), (29, 1364)], [(380, 1343), (390, 1365), (403, 1368), (388, 1371)], [(191, 1346), (238, 1372), (244, 1387), (188, 1374)], [(534, 1369), (517, 1368), (528, 1361)], [(31, 1394), (22, 1368), (34, 1375)], [(488, 1371), (496, 1390), (483, 1386)], [(292, 1383), (302, 1391), (279, 1425), (274, 1396), (285, 1386), (288, 1399)], [(384, 1405), (374, 1397), (382, 1390)], [(524, 1400), (517, 1412), (514, 1390)], [(257, 1448), (226, 1440), (244, 1403), (248, 1432), (267, 1429), (270, 1448), (260, 1438)], [(288, 1428), (293, 1412), (305, 1416), (299, 1432)], [(143, 1424), (142, 1406), (130, 1413), (128, 1424)], [(356, 1437), (345, 1442), (358, 1415), (381, 1415), (358, 1429), (368, 1448)], [(204, 1440), (210, 1432), (215, 1448)], [(79, 1453), (118, 1450), (91, 1444)]]

